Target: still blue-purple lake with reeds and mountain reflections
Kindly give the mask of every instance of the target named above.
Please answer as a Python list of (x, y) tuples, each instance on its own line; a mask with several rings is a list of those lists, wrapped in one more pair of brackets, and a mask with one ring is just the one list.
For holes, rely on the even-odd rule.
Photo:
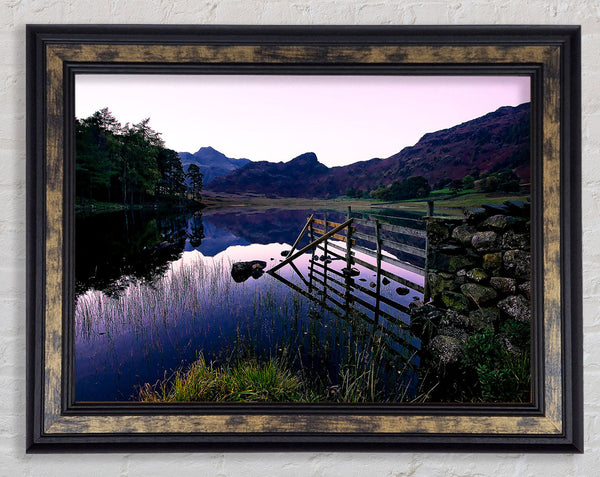
[[(328, 240), (337, 248), (327, 254), (308, 250), (294, 266), (268, 273), (285, 260), (311, 214), (346, 218), (334, 210), (250, 207), (78, 214), (75, 400), (135, 401), (144, 383), (200, 356), (215, 366), (276, 358), (332, 392), (344, 369), (376, 366), (372, 400), (413, 398), (420, 343), (406, 331), (406, 310), (423, 295), (406, 283), (418, 289), (423, 277), (388, 263), (404, 280), (384, 279), (375, 297), (376, 274), (368, 266), (354, 264), (354, 276), (344, 278), (346, 262), (334, 250), (346, 244), (336, 239)], [(389, 210), (353, 216), (424, 227), (415, 215)], [(296, 250), (308, 243), (306, 234)], [(360, 239), (356, 245), (369, 248)], [(355, 254), (376, 264), (373, 254)], [(259, 267), (243, 281), (232, 277), (233, 264), (256, 261), (266, 263), (267, 273)]]

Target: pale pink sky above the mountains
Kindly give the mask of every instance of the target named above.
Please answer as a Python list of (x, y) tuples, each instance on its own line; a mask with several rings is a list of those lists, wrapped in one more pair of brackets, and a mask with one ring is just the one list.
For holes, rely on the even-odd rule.
[(518, 76), (79, 75), (75, 114), (150, 117), (166, 146), (327, 166), (385, 158), (425, 133), (530, 100)]

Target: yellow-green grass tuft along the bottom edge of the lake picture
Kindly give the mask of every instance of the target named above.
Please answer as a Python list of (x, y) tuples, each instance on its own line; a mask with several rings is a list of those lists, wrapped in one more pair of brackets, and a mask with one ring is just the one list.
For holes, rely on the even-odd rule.
[[(408, 387), (385, 393), (380, 370), (389, 357), (381, 337), (371, 348), (354, 341), (337, 377), (323, 381), (302, 368), (294, 372), (285, 358), (258, 362), (255, 358), (217, 365), (200, 356), (186, 369), (140, 387), (142, 402), (403, 402), (410, 401)], [(301, 359), (300, 359), (301, 361)], [(398, 374), (402, 371), (398, 371)], [(332, 384), (335, 383), (335, 384)]]

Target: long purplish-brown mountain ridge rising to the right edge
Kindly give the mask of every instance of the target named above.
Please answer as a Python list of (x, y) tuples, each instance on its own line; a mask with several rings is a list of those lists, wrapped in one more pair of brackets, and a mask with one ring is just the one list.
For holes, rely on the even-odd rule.
[(282, 197), (335, 197), (346, 189), (373, 190), (380, 185), (424, 176), (430, 185), (513, 170), (529, 182), (530, 105), (504, 106), (449, 129), (425, 134), (414, 146), (386, 159), (328, 168), (312, 153), (289, 162), (251, 162), (218, 177), (205, 188), (214, 192)]

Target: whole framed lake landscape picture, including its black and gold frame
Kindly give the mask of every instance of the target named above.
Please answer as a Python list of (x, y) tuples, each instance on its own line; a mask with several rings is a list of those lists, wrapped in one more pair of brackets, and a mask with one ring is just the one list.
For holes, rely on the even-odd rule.
[(582, 452), (579, 27), (27, 42), (28, 452)]

